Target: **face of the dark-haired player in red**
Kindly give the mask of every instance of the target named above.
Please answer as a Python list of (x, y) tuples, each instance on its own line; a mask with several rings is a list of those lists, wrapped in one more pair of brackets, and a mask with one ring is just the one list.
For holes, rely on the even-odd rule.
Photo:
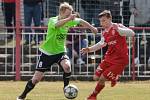
[(102, 16), (101, 18), (99, 18), (99, 20), (100, 20), (100, 24), (103, 28), (108, 28), (110, 26), (111, 18), (107, 18), (106, 16)]

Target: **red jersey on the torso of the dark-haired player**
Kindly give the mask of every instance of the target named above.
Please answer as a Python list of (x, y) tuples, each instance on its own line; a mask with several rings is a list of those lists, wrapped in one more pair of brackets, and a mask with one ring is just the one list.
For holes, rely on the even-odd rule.
[(105, 43), (108, 45), (104, 60), (113, 64), (128, 64), (128, 47), (126, 37), (111, 26), (108, 31), (103, 31)]

